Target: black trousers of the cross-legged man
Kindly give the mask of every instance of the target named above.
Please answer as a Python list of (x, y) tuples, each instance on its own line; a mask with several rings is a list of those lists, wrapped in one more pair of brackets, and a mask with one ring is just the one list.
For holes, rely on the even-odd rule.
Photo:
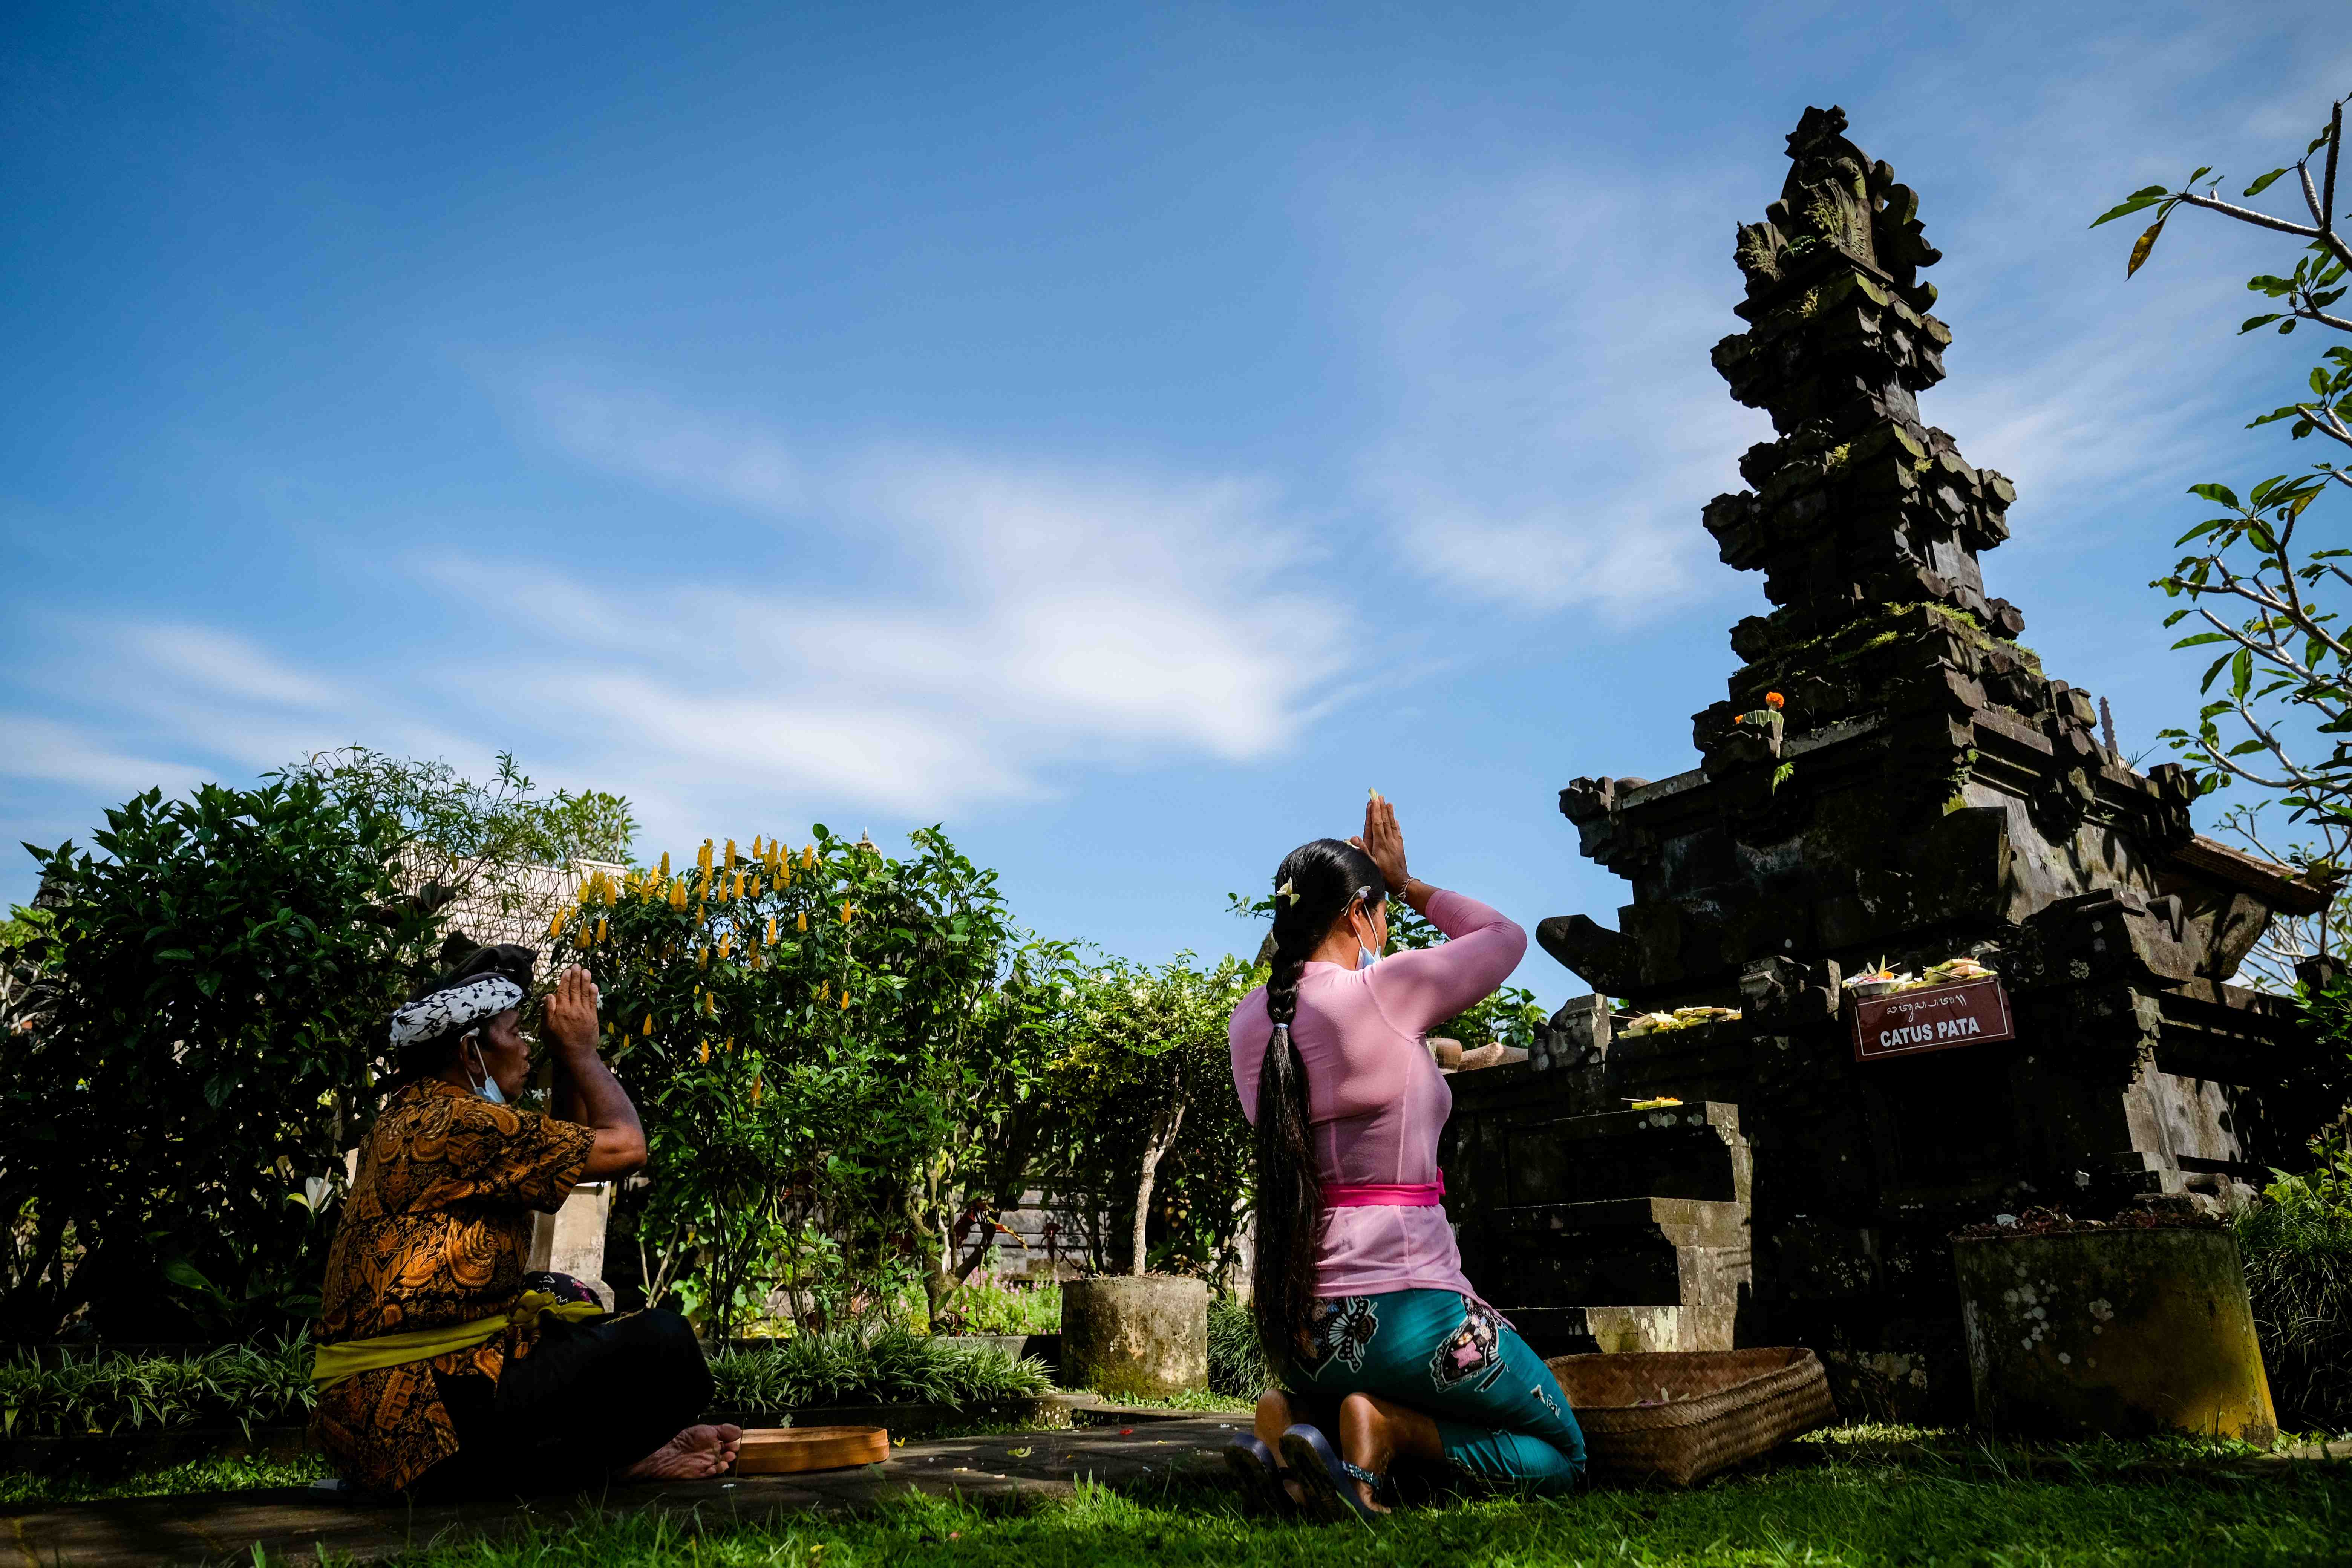
[(675, 1312), (548, 1321), (496, 1382), (433, 1373), (459, 1450), (416, 1479), (433, 1497), (579, 1490), (628, 1469), (710, 1403), (710, 1368)]

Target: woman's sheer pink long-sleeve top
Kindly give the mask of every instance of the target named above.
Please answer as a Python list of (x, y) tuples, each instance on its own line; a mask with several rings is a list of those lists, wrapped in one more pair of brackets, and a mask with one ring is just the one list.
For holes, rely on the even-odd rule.
[[(1475, 898), (1430, 893), (1428, 917), (1446, 943), (1390, 954), (1371, 969), (1308, 964), (1298, 978), (1291, 1041), (1308, 1067), (1315, 1173), (1327, 1187), (1437, 1180), (1437, 1135), (1454, 1114), (1454, 1091), (1421, 1034), (1494, 992), (1526, 952), (1526, 931)], [(1232, 1009), (1225, 1030), (1232, 1086), (1251, 1126), (1272, 1032), (1261, 985)], [(1477, 1298), (1463, 1279), (1444, 1206), (1324, 1208), (1315, 1234), (1315, 1295), (1383, 1291)]]

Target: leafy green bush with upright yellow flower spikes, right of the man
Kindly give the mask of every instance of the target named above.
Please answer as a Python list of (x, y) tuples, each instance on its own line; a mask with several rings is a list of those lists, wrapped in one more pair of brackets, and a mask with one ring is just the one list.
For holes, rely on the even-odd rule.
[[(691, 1267), (720, 1335), (769, 1286), (844, 1272), (875, 1298), (906, 1267), (938, 1312), (976, 1267), (957, 1220), (1018, 1192), (1068, 950), (1025, 940), (941, 830), (910, 846), (823, 825), (797, 851), (703, 844), (691, 870), (593, 877), (555, 922), (644, 1117), (649, 1295)], [(856, 1305), (835, 1291), (826, 1314)]]

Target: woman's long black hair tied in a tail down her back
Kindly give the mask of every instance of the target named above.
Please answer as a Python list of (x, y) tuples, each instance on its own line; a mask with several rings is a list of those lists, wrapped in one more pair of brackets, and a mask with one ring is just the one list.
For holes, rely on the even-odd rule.
[(1388, 903), (1388, 879), (1355, 844), (1301, 844), (1275, 872), (1275, 973), (1265, 983), (1275, 1032), (1258, 1067), (1258, 1255), (1249, 1291), (1258, 1342), (1277, 1368), (1296, 1366), (1308, 1349), (1315, 1227), (1322, 1220), (1322, 1182), (1308, 1135), (1308, 1067), (1291, 1044), (1298, 976), (1331, 926), (1362, 903)]

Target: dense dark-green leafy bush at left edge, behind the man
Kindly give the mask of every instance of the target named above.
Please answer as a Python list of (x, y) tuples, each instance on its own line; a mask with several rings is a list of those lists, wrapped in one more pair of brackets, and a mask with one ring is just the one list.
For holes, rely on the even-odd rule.
[(318, 1211), (433, 922), (386, 823), (315, 778), (148, 790), (92, 839), (26, 846), (40, 1001), (0, 1034), (0, 1324), (289, 1326), (315, 1307)]

